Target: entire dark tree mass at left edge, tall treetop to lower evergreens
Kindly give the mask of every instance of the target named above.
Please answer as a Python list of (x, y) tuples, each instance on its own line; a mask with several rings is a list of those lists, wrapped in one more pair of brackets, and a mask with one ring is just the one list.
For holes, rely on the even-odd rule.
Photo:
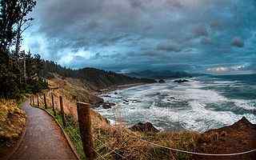
[(33, 20), (28, 14), (35, 5), (33, 0), (0, 2), (0, 97), (20, 98), (24, 93), (36, 93), (47, 87), (40, 77), (40, 56), (20, 51), (22, 33)]

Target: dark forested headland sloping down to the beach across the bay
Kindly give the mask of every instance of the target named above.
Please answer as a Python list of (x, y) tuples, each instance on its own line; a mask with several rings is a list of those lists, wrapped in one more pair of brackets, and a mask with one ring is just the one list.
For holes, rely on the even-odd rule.
[(153, 83), (150, 78), (132, 78), (125, 74), (117, 74), (112, 71), (98, 70), (95, 68), (83, 68), (80, 70), (66, 69), (55, 62), (45, 61), (42, 76), (49, 78), (52, 73), (64, 78), (78, 78), (92, 90), (102, 90), (110, 86), (119, 86), (132, 83)]

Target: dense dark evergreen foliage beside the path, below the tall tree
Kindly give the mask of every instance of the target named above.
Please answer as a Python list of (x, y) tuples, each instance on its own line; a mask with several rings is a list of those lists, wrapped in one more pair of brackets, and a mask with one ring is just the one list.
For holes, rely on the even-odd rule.
[(18, 58), (17, 62), (13, 54), (0, 54), (1, 57), (6, 55), (6, 59), (2, 58), (0, 64), (0, 97), (20, 98), (22, 94), (37, 93), (47, 88), (47, 82), (39, 76), (42, 70), (40, 56), (32, 57), (28, 53), (25, 54), (25, 60)]

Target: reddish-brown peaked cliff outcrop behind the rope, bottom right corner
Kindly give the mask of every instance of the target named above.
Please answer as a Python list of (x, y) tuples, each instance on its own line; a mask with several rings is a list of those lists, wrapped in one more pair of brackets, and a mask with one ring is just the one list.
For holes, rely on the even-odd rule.
[[(209, 130), (198, 138), (197, 151), (210, 154), (230, 154), (256, 149), (256, 125), (246, 118), (216, 130)], [(256, 152), (242, 156), (231, 157), (202, 157), (195, 159), (256, 159)]]

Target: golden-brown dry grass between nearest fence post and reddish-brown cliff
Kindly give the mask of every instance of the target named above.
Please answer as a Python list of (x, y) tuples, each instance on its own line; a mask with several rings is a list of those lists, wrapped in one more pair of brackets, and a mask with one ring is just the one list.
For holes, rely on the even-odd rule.
[(123, 126), (94, 126), (95, 148), (106, 159), (190, 159), (189, 155), (174, 153), (148, 142), (194, 151), (198, 136), (194, 132), (146, 134), (132, 132)]

